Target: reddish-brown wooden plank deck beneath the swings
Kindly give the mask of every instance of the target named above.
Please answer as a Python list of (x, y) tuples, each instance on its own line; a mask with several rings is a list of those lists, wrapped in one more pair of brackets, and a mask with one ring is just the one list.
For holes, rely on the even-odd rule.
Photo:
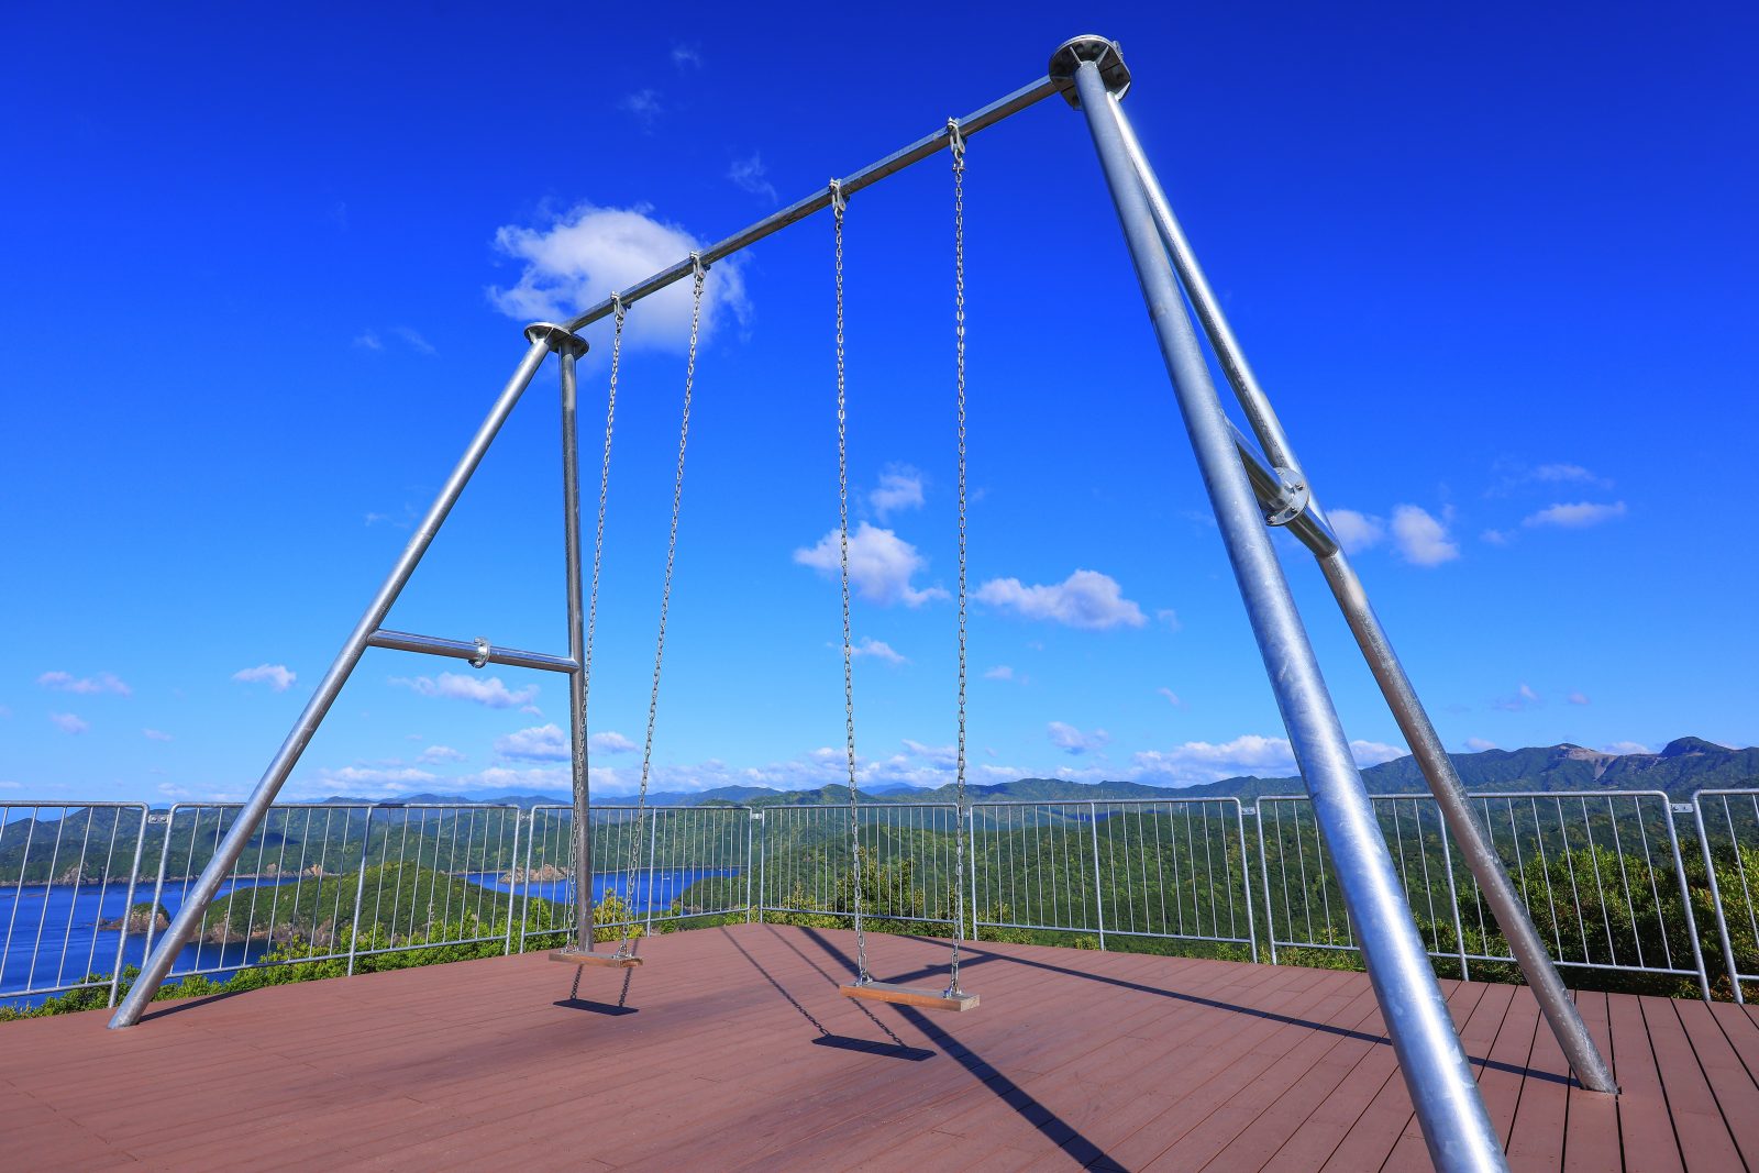
[[(878, 978), (945, 944), (876, 937)], [(853, 1002), (846, 932), (646, 941), (0, 1025), (0, 1162), (111, 1168), (1428, 1168), (1363, 974), (967, 951), (964, 1015)], [(626, 1004), (617, 1006), (628, 978)], [(1759, 1168), (1740, 1006), (1583, 994), (1624, 1094), (1569, 1083), (1522, 988), (1442, 983), (1516, 1169)]]

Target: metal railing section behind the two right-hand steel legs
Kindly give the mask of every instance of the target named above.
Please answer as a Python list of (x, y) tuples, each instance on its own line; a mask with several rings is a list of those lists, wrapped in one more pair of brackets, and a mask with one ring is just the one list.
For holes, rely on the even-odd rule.
[[(1471, 805), (1558, 965), (1692, 978), (1710, 995), (1668, 795), (1485, 793)], [(1374, 811), (1428, 953), (1463, 976), (1472, 962), (1513, 964), (1435, 800), (1376, 795)], [(1354, 950), (1312, 802), (1268, 795), (1256, 818), (1272, 960), (1279, 948)]]

